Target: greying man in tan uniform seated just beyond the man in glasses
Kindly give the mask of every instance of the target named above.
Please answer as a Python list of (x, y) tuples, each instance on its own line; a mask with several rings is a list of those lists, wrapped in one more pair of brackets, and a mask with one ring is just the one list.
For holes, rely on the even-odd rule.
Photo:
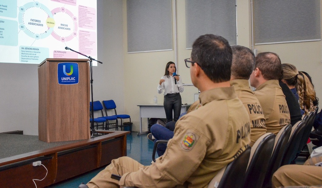
[(234, 86), (237, 97), (248, 112), (251, 121), (251, 146), (261, 135), (266, 133), (264, 112), (248, 83), (254, 66), (255, 55), (248, 47), (232, 46), (230, 85)]

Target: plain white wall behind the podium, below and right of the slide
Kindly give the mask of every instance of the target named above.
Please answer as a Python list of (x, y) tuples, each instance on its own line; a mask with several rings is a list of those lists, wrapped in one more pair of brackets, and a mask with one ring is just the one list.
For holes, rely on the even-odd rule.
[[(98, 0), (97, 9), (97, 59), (103, 64), (93, 67), (93, 97), (114, 99), (123, 113), (122, 1)], [(38, 135), (37, 66), (0, 63), (0, 132), (23, 130), (24, 134)]]

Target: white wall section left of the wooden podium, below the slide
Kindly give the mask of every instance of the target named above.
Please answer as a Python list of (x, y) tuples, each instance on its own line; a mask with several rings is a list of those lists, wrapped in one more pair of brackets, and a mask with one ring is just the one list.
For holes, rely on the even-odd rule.
[(37, 66), (0, 63), (0, 132), (38, 135)]

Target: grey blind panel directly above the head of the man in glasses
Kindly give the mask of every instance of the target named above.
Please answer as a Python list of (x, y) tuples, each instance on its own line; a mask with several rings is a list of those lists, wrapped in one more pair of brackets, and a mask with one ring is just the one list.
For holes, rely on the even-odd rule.
[(215, 34), (236, 44), (236, 1), (185, 0), (186, 48), (204, 34)]

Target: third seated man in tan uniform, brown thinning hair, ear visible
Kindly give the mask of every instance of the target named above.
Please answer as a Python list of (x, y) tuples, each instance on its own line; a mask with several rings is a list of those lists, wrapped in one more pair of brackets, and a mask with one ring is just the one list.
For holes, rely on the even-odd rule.
[(277, 54), (262, 52), (256, 56), (255, 69), (250, 77), (265, 115), (267, 132), (275, 135), (283, 126), (290, 124), (289, 107), (278, 81), (281, 69)]

